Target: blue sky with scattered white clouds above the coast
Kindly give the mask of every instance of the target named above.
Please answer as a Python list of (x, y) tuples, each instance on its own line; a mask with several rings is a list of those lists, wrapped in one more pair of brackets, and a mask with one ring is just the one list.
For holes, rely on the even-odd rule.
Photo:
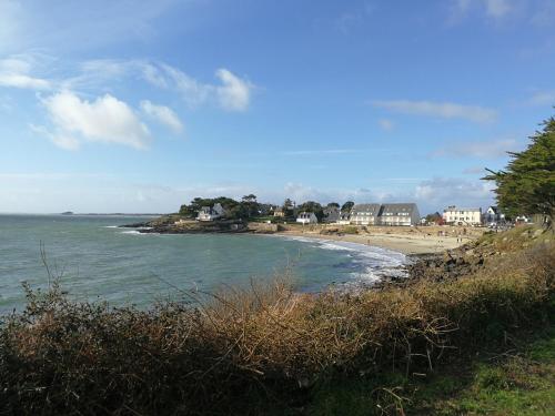
[(487, 207), (554, 74), (553, 0), (0, 0), (0, 212)]

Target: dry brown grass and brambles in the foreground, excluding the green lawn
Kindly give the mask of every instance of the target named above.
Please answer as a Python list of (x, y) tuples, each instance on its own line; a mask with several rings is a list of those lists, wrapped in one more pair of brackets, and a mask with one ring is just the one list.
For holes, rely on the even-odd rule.
[(337, 375), (431, 372), (541, 325), (554, 264), (543, 244), (456, 281), (356, 296), (253, 283), (150, 311), (28, 288), (27, 310), (0, 329), (0, 403), (4, 414), (254, 414), (249, 400), (294, 404)]

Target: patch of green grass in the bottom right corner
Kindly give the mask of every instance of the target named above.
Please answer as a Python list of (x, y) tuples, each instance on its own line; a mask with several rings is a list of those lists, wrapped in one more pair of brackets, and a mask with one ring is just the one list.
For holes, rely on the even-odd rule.
[(555, 415), (554, 326), (517, 351), (483, 355), (428, 379), (382, 374), (320, 386), (307, 414)]

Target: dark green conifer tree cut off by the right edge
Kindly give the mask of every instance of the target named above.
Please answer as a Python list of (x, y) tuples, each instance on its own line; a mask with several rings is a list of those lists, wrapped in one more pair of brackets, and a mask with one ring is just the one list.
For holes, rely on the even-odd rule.
[(543, 214), (553, 227), (555, 210), (555, 118), (543, 123), (523, 152), (508, 152), (504, 171), (492, 171), (483, 180), (495, 181), (497, 204), (505, 215)]

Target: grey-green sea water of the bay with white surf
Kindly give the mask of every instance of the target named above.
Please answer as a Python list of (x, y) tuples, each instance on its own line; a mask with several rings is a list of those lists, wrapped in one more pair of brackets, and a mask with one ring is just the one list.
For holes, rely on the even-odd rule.
[[(250, 234), (140, 234), (118, 225), (147, 217), (0, 215), (0, 313), (24, 305), (21, 283), (60, 276), (77, 300), (148, 307), (181, 290), (213, 292), (289, 271), (297, 291), (356, 287), (400, 273), (401, 253), (352, 243)], [(401, 272), (402, 273), (402, 272)]]

